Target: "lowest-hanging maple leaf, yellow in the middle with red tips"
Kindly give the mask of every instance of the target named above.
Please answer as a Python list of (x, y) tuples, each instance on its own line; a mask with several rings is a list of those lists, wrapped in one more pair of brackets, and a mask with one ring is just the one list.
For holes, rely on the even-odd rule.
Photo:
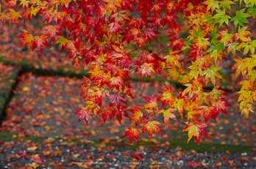
[(196, 124), (193, 124), (191, 122), (185, 122), (185, 124), (187, 124), (188, 126), (182, 130), (188, 132), (188, 142), (189, 140), (191, 140), (192, 137), (194, 137), (198, 146), (200, 143), (200, 135), (203, 135), (205, 136), (205, 138), (209, 139), (207, 133), (205, 132), (205, 129), (203, 129), (204, 127), (207, 127), (207, 125), (200, 123), (201, 121), (202, 120), (199, 120), (199, 122)]

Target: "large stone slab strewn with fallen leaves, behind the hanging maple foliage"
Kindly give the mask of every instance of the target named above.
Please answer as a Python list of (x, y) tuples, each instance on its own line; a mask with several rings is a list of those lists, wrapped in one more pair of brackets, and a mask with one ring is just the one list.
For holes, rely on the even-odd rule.
[[(81, 106), (85, 106), (85, 100), (79, 99), (78, 86), (82, 83), (82, 79), (57, 76), (37, 77), (31, 73), (25, 73), (18, 80), (18, 86), (13, 91), (14, 96), (6, 110), (7, 119), (1, 123), (1, 132), (15, 132), (17, 136), (60, 137), (71, 140), (74, 138), (121, 138), (126, 127), (131, 125), (129, 119), (122, 119), (122, 125), (120, 125), (116, 119), (109, 121), (108, 118), (104, 124), (102, 117), (96, 119), (95, 116), (90, 119), (89, 125), (84, 121), (77, 124), (78, 117), (74, 112)], [(151, 97), (152, 91), (159, 91), (161, 88), (161, 84), (157, 82), (146, 83), (144, 89), (143, 82), (134, 82), (134, 84), (135, 100), (128, 99), (128, 108), (133, 108), (134, 104), (141, 107), (146, 103), (143, 97)], [(160, 95), (156, 94), (156, 96)], [(237, 97), (237, 94), (230, 94), (228, 97), (230, 103), (233, 102), (234, 97)], [(130, 113), (129, 116), (131, 116)], [(163, 117), (157, 116), (155, 120), (163, 122)], [(251, 114), (249, 119), (241, 117), (238, 105), (228, 109), (228, 116), (220, 113), (217, 123), (210, 120), (207, 124), (210, 126), (206, 128), (210, 140), (201, 137), (202, 142), (255, 146), (255, 114)], [(142, 129), (142, 127), (143, 124), (138, 128)], [(164, 123), (159, 127), (161, 135), (152, 136), (156, 140), (187, 135), (187, 132), (182, 132), (182, 128), (185, 127), (182, 119), (178, 121), (170, 119), (169, 127)], [(177, 130), (178, 132), (174, 132)], [(140, 134), (140, 138), (148, 138), (147, 133)]]

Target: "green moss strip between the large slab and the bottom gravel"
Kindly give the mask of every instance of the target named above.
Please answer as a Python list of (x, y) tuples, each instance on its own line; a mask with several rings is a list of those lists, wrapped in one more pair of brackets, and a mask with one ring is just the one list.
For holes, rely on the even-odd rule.
[[(45, 137), (25, 137), (24, 141), (31, 140), (33, 143), (43, 143), (43, 140), (47, 139)], [(93, 147), (100, 147), (102, 143), (104, 147), (114, 146), (115, 149), (122, 150), (131, 150), (138, 149), (140, 146), (143, 146), (145, 149), (177, 149), (179, 147), (179, 151), (197, 151), (197, 152), (207, 152), (207, 153), (227, 153), (227, 154), (241, 154), (246, 152), (247, 154), (254, 154), (253, 146), (243, 146), (243, 145), (229, 145), (229, 144), (221, 144), (221, 143), (200, 143), (200, 146), (193, 140), (190, 140), (187, 143), (187, 138), (172, 138), (170, 140), (140, 140), (140, 142), (132, 141), (129, 143), (127, 138), (123, 139), (112, 139), (110, 141), (106, 140), (90, 140), (87, 144)], [(17, 142), (18, 138), (13, 138), (13, 133), (11, 132), (0, 132), (0, 141), (8, 142), (14, 141)], [(66, 143), (79, 143), (82, 139), (75, 140), (67, 140), (62, 138), (55, 138), (57, 142), (66, 142)]]

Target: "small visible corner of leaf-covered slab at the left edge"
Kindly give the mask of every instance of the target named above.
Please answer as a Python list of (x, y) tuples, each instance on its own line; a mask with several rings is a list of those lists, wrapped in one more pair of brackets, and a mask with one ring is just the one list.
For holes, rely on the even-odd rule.
[(12, 67), (0, 62), (0, 119), (4, 113), (4, 106), (10, 97), (15, 80), (20, 72), (18, 67)]

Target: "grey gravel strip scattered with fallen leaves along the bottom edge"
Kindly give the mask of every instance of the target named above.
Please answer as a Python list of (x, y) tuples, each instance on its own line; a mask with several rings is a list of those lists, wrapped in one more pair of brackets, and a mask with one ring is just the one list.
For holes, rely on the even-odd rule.
[(90, 143), (68, 145), (0, 142), (0, 168), (256, 168), (256, 157), (242, 154), (209, 154), (177, 149), (104, 149)]

